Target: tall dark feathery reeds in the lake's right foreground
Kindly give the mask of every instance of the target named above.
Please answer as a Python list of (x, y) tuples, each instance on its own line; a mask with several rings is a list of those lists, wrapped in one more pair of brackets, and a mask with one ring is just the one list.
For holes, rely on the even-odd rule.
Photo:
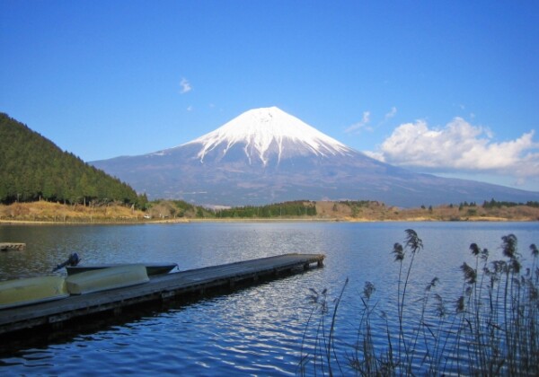
[[(490, 261), (489, 250), (470, 245), (473, 265), (460, 267), (460, 296), (446, 300), (436, 292), (438, 280), (433, 278), (419, 300), (418, 315), (408, 310), (418, 300), (412, 302), (407, 291), (423, 243), (416, 232), (406, 230), (404, 245), (393, 245), (399, 276), (396, 300), (390, 304), (398, 323), (377, 309), (376, 286), (367, 282), (360, 295), (356, 343), (343, 352), (335, 346), (335, 327), (349, 280), (334, 300), (327, 290), (318, 294), (313, 289), (297, 373), (539, 375), (539, 250), (530, 246), (531, 267), (523, 268), (517, 237), (509, 234), (501, 240), (499, 260)], [(383, 329), (375, 320), (384, 323)]]

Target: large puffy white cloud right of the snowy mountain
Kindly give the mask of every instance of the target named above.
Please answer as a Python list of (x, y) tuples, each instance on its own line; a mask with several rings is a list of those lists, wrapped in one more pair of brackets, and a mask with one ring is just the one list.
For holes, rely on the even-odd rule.
[(424, 120), (394, 129), (367, 155), (393, 165), (424, 171), (490, 171), (515, 180), (539, 177), (539, 144), (532, 130), (515, 140), (495, 142), (488, 128), (454, 118), (446, 127), (430, 128)]

